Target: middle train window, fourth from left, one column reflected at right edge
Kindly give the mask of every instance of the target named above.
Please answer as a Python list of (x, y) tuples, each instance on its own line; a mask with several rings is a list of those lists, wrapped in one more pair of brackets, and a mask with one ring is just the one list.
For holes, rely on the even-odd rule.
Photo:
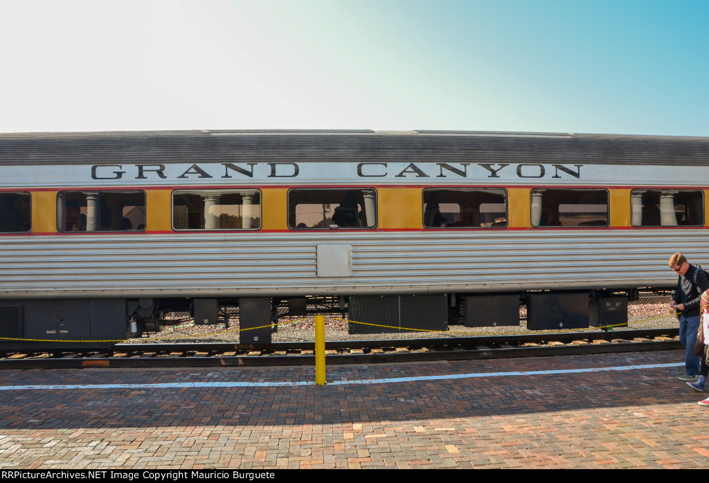
[(376, 191), (293, 189), (288, 192), (291, 229), (374, 228)]

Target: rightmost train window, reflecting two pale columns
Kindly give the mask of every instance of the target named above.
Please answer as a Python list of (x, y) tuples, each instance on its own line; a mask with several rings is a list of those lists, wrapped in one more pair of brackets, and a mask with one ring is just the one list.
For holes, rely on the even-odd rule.
[(701, 227), (704, 193), (701, 190), (632, 190), (630, 223), (634, 227)]

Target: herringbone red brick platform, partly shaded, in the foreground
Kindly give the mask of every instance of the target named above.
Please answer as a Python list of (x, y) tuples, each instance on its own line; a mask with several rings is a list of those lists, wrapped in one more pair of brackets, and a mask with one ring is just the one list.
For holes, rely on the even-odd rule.
[[(0, 467), (705, 467), (709, 408), (683, 368), (401, 378), (683, 361), (683, 353), (328, 368), (325, 387), (0, 391)], [(0, 385), (313, 381), (311, 368), (24, 370)]]

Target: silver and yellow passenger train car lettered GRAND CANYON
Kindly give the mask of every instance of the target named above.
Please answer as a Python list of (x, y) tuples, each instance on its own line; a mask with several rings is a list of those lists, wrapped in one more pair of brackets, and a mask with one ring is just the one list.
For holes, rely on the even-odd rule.
[(703, 137), (0, 135), (0, 346), (310, 300), (399, 327), (518, 324), (520, 304), (532, 329), (603, 324), (675, 285), (675, 251), (708, 263), (708, 171)]

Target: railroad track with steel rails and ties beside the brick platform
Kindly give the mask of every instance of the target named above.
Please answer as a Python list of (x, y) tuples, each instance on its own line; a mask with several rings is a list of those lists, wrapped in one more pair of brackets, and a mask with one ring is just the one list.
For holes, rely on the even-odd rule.
[[(328, 364), (371, 364), (593, 353), (663, 351), (681, 348), (679, 329), (565, 332), (447, 339), (330, 341)], [(315, 365), (314, 342), (138, 343), (110, 350), (4, 351), (0, 369), (177, 368)]]

